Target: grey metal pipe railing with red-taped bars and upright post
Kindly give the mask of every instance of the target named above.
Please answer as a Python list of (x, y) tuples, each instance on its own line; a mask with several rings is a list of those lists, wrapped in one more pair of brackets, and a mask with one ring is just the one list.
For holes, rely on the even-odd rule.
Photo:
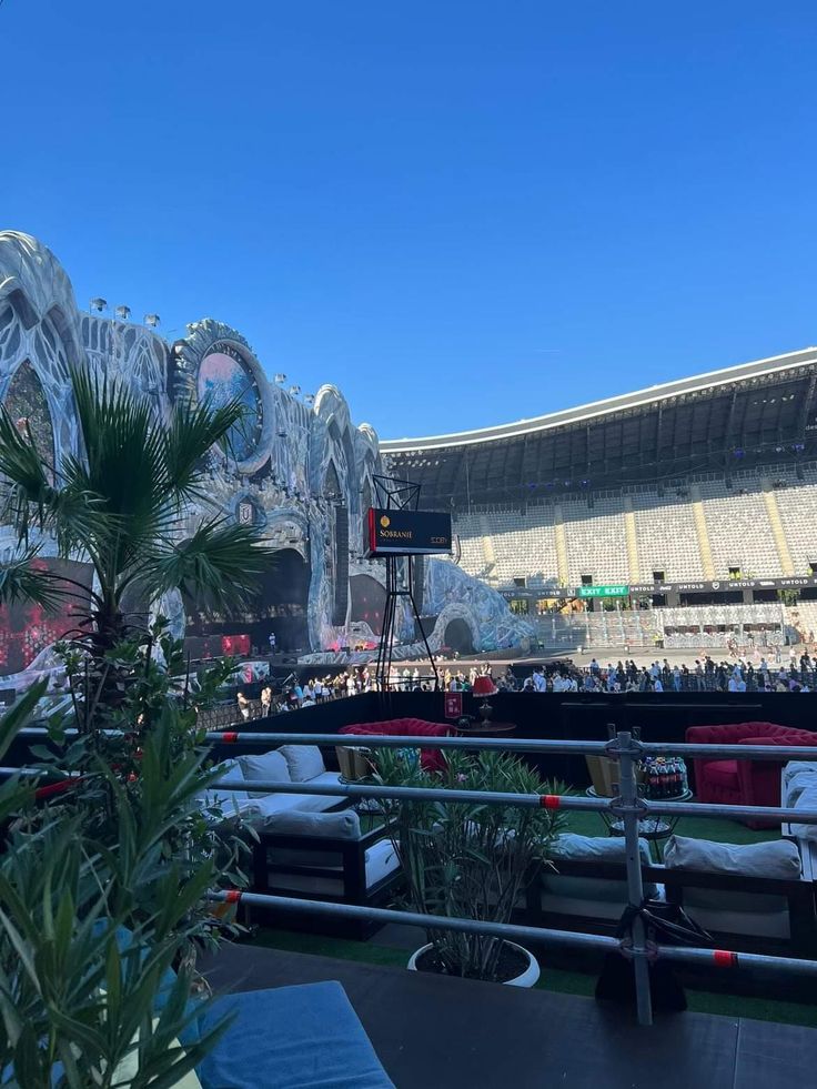
[[(597, 949), (617, 950), (631, 958), (634, 964), (636, 1004), (638, 1022), (652, 1025), (653, 1010), (649, 992), (649, 962), (658, 958), (680, 964), (708, 965), (722, 968), (752, 967), (760, 970), (797, 972), (817, 978), (817, 961), (784, 956), (734, 952), (726, 949), (703, 949), (679, 946), (654, 945), (648, 941), (644, 920), (639, 910), (644, 901), (642, 883), (642, 859), (639, 854), (639, 821), (650, 816), (694, 816), (727, 818), (761, 818), (765, 820), (796, 821), (817, 825), (817, 810), (794, 809), (769, 806), (733, 806), (712, 803), (647, 800), (638, 797), (636, 764), (653, 755), (726, 757), (730, 759), (764, 759), (785, 763), (801, 759), (803, 747), (767, 745), (688, 745), (643, 743), (628, 730), (618, 730), (609, 742), (579, 742), (551, 739), (503, 739), (468, 737), (417, 737), (394, 735), (361, 734), (291, 734), (291, 733), (242, 733), (208, 734), (210, 742), (236, 745), (334, 745), (366, 748), (436, 748), (468, 750), (496, 750), (511, 753), (567, 753), (574, 755), (607, 756), (619, 765), (619, 794), (613, 798), (573, 797), (566, 795), (513, 794), (506, 791), (457, 790), (436, 787), (394, 787), (356, 783), (311, 784), (270, 783), (253, 780), (253, 791), (279, 794), (313, 794), (347, 798), (391, 798), (396, 800), (433, 800), (442, 803), (477, 803), (482, 805), (521, 807), (544, 807), (548, 809), (575, 809), (585, 811), (608, 811), (621, 818), (624, 828), (625, 867), (627, 875), (628, 905), (635, 908), (632, 927), (632, 941), (597, 934), (578, 934), (547, 927), (520, 926), (515, 924), (483, 922), (474, 919), (446, 918), (410, 911), (395, 911), (385, 908), (331, 904), (306, 900), (297, 897), (273, 896), (260, 893), (244, 893), (238, 889), (211, 894), (216, 901), (258, 905), (279, 909), (296, 909), (306, 915), (330, 915), (349, 919), (367, 919), (380, 922), (402, 922), (425, 929), (456, 930), (482, 934), (498, 938), (535, 940), (545, 945), (563, 945)], [(219, 790), (245, 790), (245, 780), (219, 780)]]

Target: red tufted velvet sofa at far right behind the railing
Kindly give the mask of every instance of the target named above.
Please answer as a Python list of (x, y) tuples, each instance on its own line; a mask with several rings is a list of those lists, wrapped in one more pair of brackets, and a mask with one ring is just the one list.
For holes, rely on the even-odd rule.
[[(775, 723), (729, 723), (724, 726), (690, 726), (690, 745), (801, 745), (817, 748), (817, 734)], [(817, 759), (817, 753), (815, 753)], [(695, 794), (698, 801), (722, 805), (779, 806), (779, 760), (694, 760)], [(771, 827), (773, 821), (749, 820), (752, 828)]]

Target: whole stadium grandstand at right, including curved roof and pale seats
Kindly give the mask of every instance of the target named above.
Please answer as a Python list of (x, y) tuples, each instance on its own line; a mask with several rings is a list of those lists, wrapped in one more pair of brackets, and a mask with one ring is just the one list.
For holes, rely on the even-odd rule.
[(517, 423), (381, 442), (542, 646), (817, 629), (817, 349)]

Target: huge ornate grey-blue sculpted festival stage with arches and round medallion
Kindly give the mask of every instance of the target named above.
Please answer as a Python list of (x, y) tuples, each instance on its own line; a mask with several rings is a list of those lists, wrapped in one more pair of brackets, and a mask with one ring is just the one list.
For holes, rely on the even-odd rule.
[[(161, 310), (161, 300), (157, 305)], [(250, 654), (269, 649), (274, 635), (288, 665), (313, 658), (364, 664), (373, 652), (359, 657), (354, 645), (377, 644), (386, 595), (383, 565), (366, 558), (362, 547), (369, 511), (381, 503), (375, 477), (390, 472), (374, 430), (353, 422), (336, 386), (305, 393), (280, 366), (271, 373), (248, 339), (223, 322), (204, 317), (169, 340), (157, 314), (139, 323), (122, 317), (127, 313), (104, 299), (94, 299), (90, 312), (80, 309), (68, 274), (47, 246), (0, 231), (0, 403), (31, 432), (59, 477), (67, 458), (82, 456), (72, 366), (148, 399), (159, 417), (179, 403), (240, 399), (244, 415), (229, 436), (229, 452), (213, 450), (208, 456), (206, 490), (185, 506), (179, 541), (213, 516), (254, 525), (278, 554), (275, 568), (238, 614), (214, 615), (206, 603), (178, 593), (151, 602), (151, 609), (168, 617), (178, 637), (229, 643), (242, 655), (248, 644)], [(397, 508), (416, 508), (400, 493), (382, 500), (395, 517)], [(16, 542), (13, 527), (0, 525), (0, 564), (14, 555)], [(40, 557), (60, 571), (57, 542), (44, 536), (38, 546)], [(414, 598), (423, 603), (432, 647), (451, 643), (463, 624), (477, 651), (518, 645), (527, 634), (528, 626), (500, 594), (447, 558), (418, 562), (414, 574)], [(395, 657), (420, 657), (425, 646), (407, 602), (397, 613)], [(0, 611), (0, 676), (27, 668), (74, 626), (68, 615)]]

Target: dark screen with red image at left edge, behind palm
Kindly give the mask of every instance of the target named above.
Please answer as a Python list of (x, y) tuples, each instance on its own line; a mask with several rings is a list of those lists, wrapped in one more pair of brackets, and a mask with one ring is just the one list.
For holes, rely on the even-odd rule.
[(72, 596), (65, 597), (52, 613), (28, 602), (0, 606), (0, 676), (3, 677), (10, 673), (21, 673), (43, 647), (74, 632), (88, 612), (88, 592), (93, 577), (90, 564), (70, 559), (34, 559), (32, 566), (71, 578), (85, 587), (85, 593), (79, 586), (61, 582), (58, 583), (60, 589), (70, 592)]

